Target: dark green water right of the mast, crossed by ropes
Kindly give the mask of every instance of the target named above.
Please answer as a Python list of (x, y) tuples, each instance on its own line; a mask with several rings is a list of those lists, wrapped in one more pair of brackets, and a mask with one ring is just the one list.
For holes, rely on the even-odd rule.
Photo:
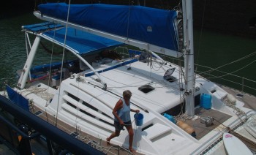
[[(211, 68), (220, 67), (218, 70), (221, 72), (214, 71), (211, 74), (221, 78), (210, 80), (256, 95), (256, 39), (210, 31), (203, 31), (203, 34), (195, 31), (194, 37), (195, 64)], [(245, 56), (248, 58), (244, 58)], [(239, 59), (241, 61), (238, 61)], [(198, 67), (197, 70), (209, 69)], [(205, 77), (211, 76), (205, 75)], [(223, 78), (226, 80), (222, 80)], [(244, 87), (241, 86), (242, 83)]]

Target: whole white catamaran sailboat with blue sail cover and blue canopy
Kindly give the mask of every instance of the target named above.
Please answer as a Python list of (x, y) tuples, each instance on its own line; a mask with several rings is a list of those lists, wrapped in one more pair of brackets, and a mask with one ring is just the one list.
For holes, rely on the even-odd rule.
[[(138, 124), (131, 113), (138, 154), (227, 154), (223, 132), (244, 129), (255, 114), (195, 75), (192, 1), (182, 1), (180, 10), (47, 3), (34, 15), (47, 22), (22, 27), (29, 55), (17, 87), (7, 86), (8, 98), (105, 154), (129, 153), (125, 130), (110, 146), (104, 142), (115, 130), (112, 111), (125, 90), (143, 116)], [(33, 66), (42, 39), (63, 47), (62, 61)], [(67, 51), (75, 58), (64, 61)], [(184, 56), (184, 67), (163, 55)]]

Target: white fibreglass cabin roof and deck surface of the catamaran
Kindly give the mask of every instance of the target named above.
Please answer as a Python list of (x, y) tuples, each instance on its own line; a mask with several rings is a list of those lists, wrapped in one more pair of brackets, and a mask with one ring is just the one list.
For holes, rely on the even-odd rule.
[[(99, 65), (97, 70), (106, 69), (111, 65), (113, 64)], [(131, 69), (128, 69), (129, 67)], [(178, 79), (178, 67), (174, 64), (172, 67), (176, 67), (173, 76)], [(102, 84), (97, 82), (98, 77), (96, 75), (82, 76), (90, 71), (75, 75), (75, 78), (63, 80), (58, 90), (49, 88), (43, 83), (34, 83), (36, 89), (49, 88), (48, 93), (54, 95), (51, 102), (46, 101), (39, 94), (28, 91), (29, 89), (21, 91), (21, 94), (28, 99), (33, 99), (34, 105), (42, 111), (47, 111), (48, 115), (58, 116), (59, 120), (64, 121), (69, 126), (74, 126), (74, 128), (78, 128), (89, 135), (105, 140), (114, 132), (112, 125), (113, 107), (122, 96), (122, 92), (129, 89), (132, 91), (131, 102), (134, 104), (131, 105), (131, 108), (139, 109), (140, 113), (144, 115), (143, 125), (135, 126), (134, 113), (131, 113), (132, 126), (135, 126), (133, 147), (138, 152), (142, 154), (187, 154), (187, 152), (200, 154), (222, 136), (220, 130), (223, 128), (219, 127), (212, 130), (197, 140), (161, 115), (161, 113), (180, 105), (184, 101), (181, 95), (183, 92), (179, 91), (178, 88), (178, 80), (170, 83), (163, 79), (165, 71), (172, 67), (167, 64), (163, 66), (164, 69), (155, 71), (146, 63), (137, 61), (123, 67), (110, 69), (100, 73), (108, 85), (108, 91), (102, 89)], [(80, 80), (77, 77), (80, 77)], [(138, 89), (143, 85), (150, 85), (154, 90), (143, 93)], [(212, 108), (233, 116), (225, 121), (225, 126), (234, 126), (238, 117), (222, 102), (222, 98), (227, 96), (227, 93), (214, 83), (200, 77), (197, 78), (195, 86), (200, 88), (200, 91), (196, 91), (195, 95), (211, 94)], [(211, 93), (213, 90), (214, 93)], [(240, 102), (238, 102), (238, 107), (245, 111), (249, 110), (243, 107)], [(146, 113), (145, 110), (148, 110), (149, 113)], [(127, 148), (127, 131), (121, 131), (121, 135), (113, 138), (111, 142)], [(214, 149), (217, 151), (223, 147)]]

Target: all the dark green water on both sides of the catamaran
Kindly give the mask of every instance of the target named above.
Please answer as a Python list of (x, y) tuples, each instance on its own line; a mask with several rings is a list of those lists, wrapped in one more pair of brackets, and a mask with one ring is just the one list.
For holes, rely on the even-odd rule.
[[(4, 86), (4, 81), (8, 81), (10, 86), (15, 86), (17, 81), (16, 70), (23, 68), (23, 64), (26, 61), (26, 46), (24, 41), (24, 32), (20, 31), (21, 26), (26, 24), (39, 23), (40, 20), (32, 15), (32, 13), (17, 16), (15, 18), (7, 18), (0, 20), (0, 88)], [(256, 39), (247, 39), (242, 37), (234, 37), (225, 34), (218, 34), (212, 31), (194, 31), (195, 37), (195, 64), (202, 66), (217, 68), (225, 64), (243, 58), (244, 56), (254, 53), (256, 51)], [(32, 42), (31, 42), (32, 43)], [(44, 61), (49, 61), (46, 56), (48, 53), (40, 51), (36, 57), (37, 64)], [(212, 78), (211, 80), (222, 83), (224, 85), (237, 88), (256, 95), (256, 54), (245, 58), (243, 61), (238, 61), (234, 64), (227, 65), (219, 68), (222, 72), (229, 72), (239, 77), (226, 75), (222, 78), (228, 78), (236, 83)], [(252, 63), (252, 64), (250, 64)], [(249, 66), (246, 66), (250, 64)], [(243, 69), (241, 69), (243, 68)], [(206, 72), (209, 68), (196, 67), (197, 71)], [(215, 76), (220, 76), (220, 72), (211, 72)], [(222, 73), (223, 75), (223, 73)], [(244, 84), (247, 86), (241, 86), (244, 77)], [(246, 80), (249, 79), (249, 80)], [(252, 81), (251, 81), (252, 80)], [(238, 84), (239, 83), (239, 84)], [(248, 88), (252, 87), (252, 88)], [(254, 88), (254, 89), (253, 89)]]

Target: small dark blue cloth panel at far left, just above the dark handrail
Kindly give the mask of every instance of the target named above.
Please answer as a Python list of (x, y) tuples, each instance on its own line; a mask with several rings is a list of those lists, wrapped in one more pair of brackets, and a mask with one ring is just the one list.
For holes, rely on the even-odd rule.
[(22, 107), (24, 110), (29, 111), (29, 100), (25, 97), (18, 94), (16, 91), (14, 91), (10, 86), (6, 86), (7, 94), (9, 99), (14, 102), (16, 105)]

